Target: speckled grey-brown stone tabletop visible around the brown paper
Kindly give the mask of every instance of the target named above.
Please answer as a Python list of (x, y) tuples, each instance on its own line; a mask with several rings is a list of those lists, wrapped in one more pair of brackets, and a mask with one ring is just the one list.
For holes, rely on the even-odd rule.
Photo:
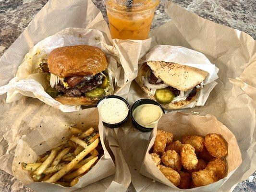
[[(48, 0), (0, 0), (0, 56), (33, 19)], [(256, 39), (255, 0), (172, 0), (191, 12), (218, 24), (242, 30)], [(93, 0), (106, 19), (101, 0)], [(169, 21), (164, 12), (165, 0), (160, 0), (151, 28)], [(0, 192), (33, 192), (0, 170)], [(131, 184), (127, 192), (135, 192)], [(239, 183), (234, 192), (256, 192), (256, 173)]]

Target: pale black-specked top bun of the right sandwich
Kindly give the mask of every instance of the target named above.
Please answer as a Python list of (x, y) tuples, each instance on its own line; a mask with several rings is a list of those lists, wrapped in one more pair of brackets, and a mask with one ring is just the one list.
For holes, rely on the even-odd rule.
[(208, 72), (165, 61), (147, 61), (155, 76), (181, 91), (188, 91), (205, 80)]

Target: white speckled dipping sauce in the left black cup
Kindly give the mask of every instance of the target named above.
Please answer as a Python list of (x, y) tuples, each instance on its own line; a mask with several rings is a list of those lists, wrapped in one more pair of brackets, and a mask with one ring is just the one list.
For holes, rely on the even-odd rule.
[(105, 123), (115, 124), (127, 117), (129, 108), (121, 99), (106, 98), (99, 102), (98, 111)]

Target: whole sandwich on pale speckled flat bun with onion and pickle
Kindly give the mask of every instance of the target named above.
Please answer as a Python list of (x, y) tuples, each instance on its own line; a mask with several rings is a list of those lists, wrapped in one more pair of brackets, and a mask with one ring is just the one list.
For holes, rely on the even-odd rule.
[(208, 72), (165, 61), (147, 61), (136, 78), (148, 97), (165, 109), (183, 108), (193, 102)]

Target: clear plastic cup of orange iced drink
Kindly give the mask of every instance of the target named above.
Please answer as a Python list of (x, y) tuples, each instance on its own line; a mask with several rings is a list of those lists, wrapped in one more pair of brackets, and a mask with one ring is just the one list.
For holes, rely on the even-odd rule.
[(103, 0), (113, 39), (147, 39), (159, 0)]

